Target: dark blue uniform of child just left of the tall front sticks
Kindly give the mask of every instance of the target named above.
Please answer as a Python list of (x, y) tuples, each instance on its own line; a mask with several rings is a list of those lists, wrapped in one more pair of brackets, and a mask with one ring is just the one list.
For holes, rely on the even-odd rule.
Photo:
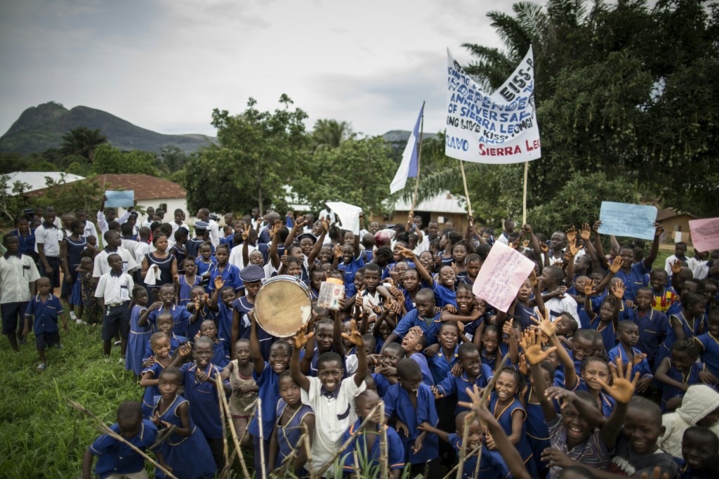
[[(183, 373), (185, 398), (190, 402), (190, 419), (197, 424), (198, 429), (207, 439), (221, 439), (224, 424), (220, 416), (215, 377), (222, 372), (222, 368), (210, 362), (203, 371), (210, 379), (204, 382), (197, 379), (195, 375), (197, 368), (195, 362), (186, 362), (180, 367), (180, 372)], [(229, 387), (228, 380), (222, 382)]]

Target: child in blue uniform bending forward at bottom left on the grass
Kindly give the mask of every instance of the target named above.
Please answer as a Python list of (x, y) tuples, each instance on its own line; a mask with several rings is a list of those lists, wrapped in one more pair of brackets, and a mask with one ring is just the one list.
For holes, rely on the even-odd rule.
[[(117, 408), (116, 423), (110, 426), (116, 434), (122, 436), (127, 442), (142, 452), (155, 444), (157, 439), (157, 426), (152, 421), (144, 419), (142, 409), (137, 401), (127, 401)], [(93, 458), (97, 457), (95, 475), (106, 479), (114, 475), (139, 474), (147, 477), (145, 473), (145, 459), (137, 454), (124, 442), (102, 434), (85, 451), (83, 457), (83, 479), (91, 477)], [(164, 465), (162, 455), (157, 454), (157, 462)]]

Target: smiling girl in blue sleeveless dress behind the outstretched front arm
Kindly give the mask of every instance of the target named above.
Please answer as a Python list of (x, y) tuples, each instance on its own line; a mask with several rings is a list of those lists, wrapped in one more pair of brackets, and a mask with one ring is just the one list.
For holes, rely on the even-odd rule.
[[(502, 426), (510, 442), (517, 448), (531, 477), (537, 477), (536, 467), (532, 459), (532, 451), (526, 437), (526, 410), (519, 401), (519, 393), (524, 388), (524, 378), (513, 366), (503, 368), (497, 375), (495, 390), (490, 394), (490, 412)], [(492, 437), (485, 437), (485, 446), (492, 455), (499, 455)], [(499, 477), (485, 474), (482, 478)]]

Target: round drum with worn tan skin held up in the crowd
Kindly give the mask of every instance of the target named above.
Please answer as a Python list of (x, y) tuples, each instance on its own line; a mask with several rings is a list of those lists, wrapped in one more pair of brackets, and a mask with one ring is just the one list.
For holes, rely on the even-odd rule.
[(262, 329), (273, 336), (293, 336), (312, 316), (310, 290), (294, 276), (275, 276), (257, 293), (255, 316)]

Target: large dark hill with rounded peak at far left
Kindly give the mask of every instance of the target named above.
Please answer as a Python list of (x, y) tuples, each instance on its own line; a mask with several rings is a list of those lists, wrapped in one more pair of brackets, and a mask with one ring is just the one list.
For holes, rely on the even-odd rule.
[(0, 152), (39, 153), (60, 147), (63, 134), (77, 127), (99, 128), (114, 147), (120, 150), (160, 151), (175, 146), (184, 152), (195, 152), (214, 137), (203, 134), (161, 134), (140, 128), (106, 111), (87, 106), (64, 106), (49, 102), (31, 106), (22, 112), (0, 137)]

